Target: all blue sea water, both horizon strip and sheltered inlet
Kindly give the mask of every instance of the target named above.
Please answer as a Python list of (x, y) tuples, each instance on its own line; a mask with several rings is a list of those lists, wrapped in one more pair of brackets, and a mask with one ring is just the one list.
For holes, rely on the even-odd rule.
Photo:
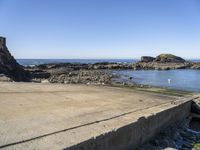
[[(115, 62), (133, 63), (139, 59), (17, 59), (24, 66), (33, 66), (47, 63), (87, 63)], [(200, 60), (190, 60), (200, 62)], [(115, 71), (121, 78), (133, 78), (134, 83), (145, 84), (169, 89), (178, 89), (192, 92), (200, 92), (200, 70), (119, 70)]]

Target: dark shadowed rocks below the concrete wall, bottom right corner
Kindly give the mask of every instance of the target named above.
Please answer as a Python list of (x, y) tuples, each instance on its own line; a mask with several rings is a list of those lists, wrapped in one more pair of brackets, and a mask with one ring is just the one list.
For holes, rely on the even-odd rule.
[(158, 133), (140, 150), (199, 150), (200, 149), (200, 99), (193, 102), (191, 115), (181, 124), (173, 124)]

